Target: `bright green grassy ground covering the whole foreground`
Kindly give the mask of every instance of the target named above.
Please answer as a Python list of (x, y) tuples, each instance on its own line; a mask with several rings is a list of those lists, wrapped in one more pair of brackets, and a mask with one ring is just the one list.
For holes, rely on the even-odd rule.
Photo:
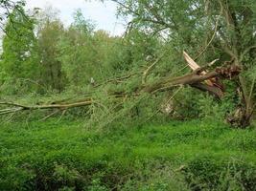
[(0, 190), (256, 190), (256, 130), (190, 121), (0, 128)]

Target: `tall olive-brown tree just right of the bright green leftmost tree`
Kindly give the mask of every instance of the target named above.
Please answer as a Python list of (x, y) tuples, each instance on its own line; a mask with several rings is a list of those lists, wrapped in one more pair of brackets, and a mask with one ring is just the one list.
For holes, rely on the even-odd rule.
[[(53, 11), (52, 11), (53, 12)], [(58, 40), (64, 32), (56, 13), (42, 12), (37, 27), (38, 55), (40, 57), (41, 83), (52, 90), (63, 89), (61, 63), (58, 60)]]

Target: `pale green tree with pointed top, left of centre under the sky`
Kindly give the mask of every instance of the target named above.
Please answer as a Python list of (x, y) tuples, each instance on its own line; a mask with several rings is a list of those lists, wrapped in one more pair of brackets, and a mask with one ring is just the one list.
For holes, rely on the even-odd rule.
[(83, 17), (81, 11), (76, 11), (74, 22), (58, 42), (58, 60), (62, 62), (62, 72), (74, 87), (84, 87), (89, 84), (90, 77), (95, 77), (93, 29), (93, 25)]

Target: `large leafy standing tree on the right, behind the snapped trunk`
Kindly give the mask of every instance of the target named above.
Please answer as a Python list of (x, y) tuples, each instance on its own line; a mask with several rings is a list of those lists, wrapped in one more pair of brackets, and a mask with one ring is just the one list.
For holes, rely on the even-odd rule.
[[(226, 89), (228, 94), (240, 91), (240, 95), (237, 94), (240, 96), (240, 102), (236, 97), (235, 100), (225, 98), (221, 104), (215, 104), (211, 98), (196, 96), (200, 102), (198, 105), (194, 102), (197, 99), (191, 94), (194, 91), (190, 91), (189, 95), (184, 95), (184, 97), (186, 97), (185, 101), (191, 99), (193, 107), (190, 107), (192, 103), (182, 104), (191, 110), (181, 112), (183, 118), (186, 116), (184, 114), (188, 114), (187, 117), (215, 117), (217, 113), (220, 114), (217, 118), (221, 118), (224, 112), (234, 109), (235, 104), (236, 107), (241, 107), (243, 111), (246, 111), (244, 116), (250, 118), (248, 114), (255, 109), (253, 106), (255, 105), (255, 73), (253, 72), (256, 59), (256, 14), (253, 0), (118, 0), (117, 2), (119, 15), (132, 15), (131, 28), (145, 32), (149, 36), (157, 35), (158, 39), (164, 39), (164, 46), (169, 46), (171, 53), (174, 53), (172, 57), (175, 53), (186, 50), (199, 65), (220, 58), (217, 65), (233, 60), (235, 64), (243, 68), (240, 78), (236, 79), (237, 83)], [(177, 61), (174, 58), (171, 59)], [(173, 70), (171, 68), (172, 72), (179, 71), (176, 70), (175, 62), (170, 65), (170, 68), (171, 66), (173, 68)], [(163, 65), (159, 68), (162, 71), (170, 70), (169, 67)], [(195, 109), (193, 109), (194, 104), (196, 104)], [(178, 110), (182, 109), (178, 108)]]

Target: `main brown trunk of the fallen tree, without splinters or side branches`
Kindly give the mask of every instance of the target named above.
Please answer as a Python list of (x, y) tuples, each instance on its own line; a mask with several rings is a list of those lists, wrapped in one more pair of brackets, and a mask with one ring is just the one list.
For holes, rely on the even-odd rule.
[[(126, 95), (125, 92), (123, 94), (113, 93), (109, 95), (109, 97), (114, 97), (116, 99), (126, 97), (126, 96), (139, 96), (144, 93), (155, 94), (158, 92), (168, 91), (176, 86), (180, 85), (190, 85), (191, 87), (197, 88), (202, 91), (209, 92), (210, 94), (221, 98), (223, 96), (222, 90), (218, 86), (209, 85), (205, 82), (205, 80), (211, 80), (215, 77), (227, 78), (230, 79), (235, 75), (240, 73), (240, 68), (236, 65), (230, 65), (225, 67), (218, 67), (210, 72), (205, 72), (205, 74), (201, 74), (202, 71), (205, 71), (206, 67), (198, 68), (194, 72), (190, 74), (185, 74), (179, 77), (165, 77), (154, 84), (142, 85), (137, 88), (137, 91), (134, 94)], [(0, 102), (0, 105), (6, 105), (8, 108), (0, 110), (0, 115), (6, 115), (21, 111), (33, 111), (33, 110), (54, 110), (58, 109), (60, 111), (64, 111), (70, 108), (89, 106), (91, 104), (100, 104), (97, 100), (93, 100), (93, 98), (87, 97), (77, 102), (69, 102), (69, 103), (58, 103), (58, 104), (49, 104), (49, 105), (23, 105), (11, 102)]]

